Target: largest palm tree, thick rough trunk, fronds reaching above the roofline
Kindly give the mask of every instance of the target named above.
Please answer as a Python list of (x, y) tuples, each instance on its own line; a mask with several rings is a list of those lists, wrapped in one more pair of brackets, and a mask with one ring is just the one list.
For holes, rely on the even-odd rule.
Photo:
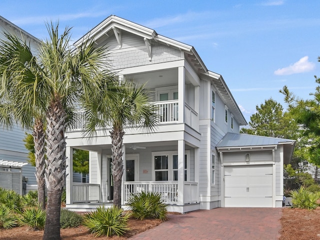
[(92, 91), (105, 91), (109, 72), (105, 47), (95, 47), (92, 41), (70, 47), (71, 28), (65, 27), (59, 35), (58, 23), (46, 26), (49, 38), (41, 43), (36, 55), (24, 42), (16, 44), (8, 35), (2, 48), (9, 54), (1, 55), (0, 64), (6, 63), (0, 73), (1, 87), (19, 99), (14, 101), (15, 106), (25, 110), (27, 119), (34, 117), (34, 112), (45, 116), (44, 175), (48, 199), (43, 239), (60, 239), (60, 201), (66, 167), (64, 129), (72, 122), (73, 109), (80, 107), (80, 99), (87, 100)]

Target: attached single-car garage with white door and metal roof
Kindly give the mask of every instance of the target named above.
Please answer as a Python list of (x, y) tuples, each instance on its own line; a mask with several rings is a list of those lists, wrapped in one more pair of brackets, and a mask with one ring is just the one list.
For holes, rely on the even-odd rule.
[(281, 207), (283, 163), (294, 140), (228, 132), (216, 148), (221, 161), (221, 206)]

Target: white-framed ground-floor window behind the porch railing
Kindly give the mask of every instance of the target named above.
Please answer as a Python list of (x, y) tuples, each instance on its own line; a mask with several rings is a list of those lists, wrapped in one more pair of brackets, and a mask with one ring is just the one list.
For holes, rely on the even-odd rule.
[[(158, 152), (159, 153), (159, 152)], [(184, 180), (189, 179), (188, 154), (184, 155)], [(153, 170), (155, 181), (177, 181), (178, 180), (178, 155), (176, 152), (170, 154), (155, 154), (153, 156)]]

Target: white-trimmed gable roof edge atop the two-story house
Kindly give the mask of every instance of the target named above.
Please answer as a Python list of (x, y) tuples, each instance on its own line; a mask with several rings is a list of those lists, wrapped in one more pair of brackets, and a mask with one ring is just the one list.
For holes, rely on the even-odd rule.
[(108, 37), (109, 31), (116, 35), (116, 39), (119, 43), (119, 47), (121, 47), (121, 30), (131, 32), (135, 35), (143, 37), (145, 44), (150, 45), (151, 41), (159, 42), (161, 44), (177, 48), (183, 51), (185, 57), (188, 58), (189, 62), (192, 64), (194, 69), (201, 74), (203, 79), (211, 81), (213, 85), (216, 86), (217, 90), (220, 93), (223, 101), (227, 105), (227, 107), (232, 112), (234, 118), (239, 123), (239, 125), (246, 125), (247, 122), (236, 104), (230, 90), (228, 89), (225, 81), (223, 80), (220, 74), (209, 71), (204, 65), (202, 59), (196, 52), (193, 46), (182, 43), (180, 41), (171, 39), (166, 36), (162, 36), (158, 34), (155, 30), (142, 26), (140, 24), (134, 23), (132, 21), (126, 20), (124, 18), (110, 15), (93, 27), (89, 32), (87, 32), (84, 36), (74, 42), (74, 45), (78, 46), (83, 44), (88, 39), (93, 39), (97, 41), (101, 37)]

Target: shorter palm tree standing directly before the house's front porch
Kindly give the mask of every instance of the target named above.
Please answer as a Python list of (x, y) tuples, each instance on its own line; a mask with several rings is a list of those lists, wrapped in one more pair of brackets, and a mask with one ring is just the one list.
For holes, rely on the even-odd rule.
[[(113, 81), (114, 91), (95, 94), (91, 102), (86, 102), (86, 126), (88, 133), (95, 132), (96, 127), (110, 130), (112, 150), (113, 205), (121, 207), (121, 182), (123, 175), (123, 135), (124, 128), (130, 126), (152, 130), (157, 122), (155, 106), (150, 102), (149, 92), (144, 85), (133, 82)], [(110, 94), (111, 93), (111, 94)], [(108, 100), (100, 100), (107, 98)], [(96, 99), (96, 100), (95, 100)], [(99, 105), (94, 105), (100, 102)], [(94, 110), (92, 110), (94, 109)]]

